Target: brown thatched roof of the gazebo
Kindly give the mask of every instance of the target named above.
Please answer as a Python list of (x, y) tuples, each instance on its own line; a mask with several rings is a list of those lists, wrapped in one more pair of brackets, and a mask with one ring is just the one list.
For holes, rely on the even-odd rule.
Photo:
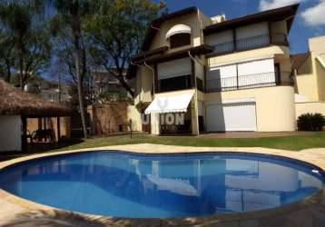
[(54, 117), (69, 115), (71, 109), (62, 104), (45, 102), (36, 95), (26, 93), (0, 79), (0, 114)]

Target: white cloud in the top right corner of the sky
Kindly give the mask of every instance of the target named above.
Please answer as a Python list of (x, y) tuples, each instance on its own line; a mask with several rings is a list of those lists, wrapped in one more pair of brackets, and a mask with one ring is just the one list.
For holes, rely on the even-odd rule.
[(312, 6), (301, 13), (301, 16), (307, 25), (317, 26), (325, 25), (325, 0), (320, 0), (318, 5)]

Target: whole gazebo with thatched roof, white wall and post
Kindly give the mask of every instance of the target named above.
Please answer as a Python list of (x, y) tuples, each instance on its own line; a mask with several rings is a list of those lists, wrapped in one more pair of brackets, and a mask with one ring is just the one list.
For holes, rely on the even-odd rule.
[(45, 102), (36, 95), (28, 94), (0, 79), (0, 143), (8, 143), (3, 146), (5, 148), (0, 146), (0, 151), (10, 148), (17, 150), (19, 144), (14, 143), (18, 143), (18, 133), (21, 147), (25, 148), (27, 118), (57, 117), (59, 133), (60, 117), (68, 116), (71, 112), (66, 105)]

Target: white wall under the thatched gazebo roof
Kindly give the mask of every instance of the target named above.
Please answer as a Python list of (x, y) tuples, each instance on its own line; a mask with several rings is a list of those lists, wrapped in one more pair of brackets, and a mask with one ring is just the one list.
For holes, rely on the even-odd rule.
[(0, 115), (0, 152), (21, 151), (20, 115)]

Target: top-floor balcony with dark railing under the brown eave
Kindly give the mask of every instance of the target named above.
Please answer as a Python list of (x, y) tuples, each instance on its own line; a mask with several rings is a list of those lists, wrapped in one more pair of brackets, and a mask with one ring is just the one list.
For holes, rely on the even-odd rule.
[(276, 34), (266, 34), (258, 35), (244, 39), (237, 39), (235, 41), (216, 44), (214, 45), (214, 52), (212, 54), (207, 54), (207, 57), (212, 57), (222, 54), (231, 54), (234, 52), (248, 51), (261, 47), (269, 46), (270, 44), (279, 45), (289, 45), (287, 35), (276, 33)]

